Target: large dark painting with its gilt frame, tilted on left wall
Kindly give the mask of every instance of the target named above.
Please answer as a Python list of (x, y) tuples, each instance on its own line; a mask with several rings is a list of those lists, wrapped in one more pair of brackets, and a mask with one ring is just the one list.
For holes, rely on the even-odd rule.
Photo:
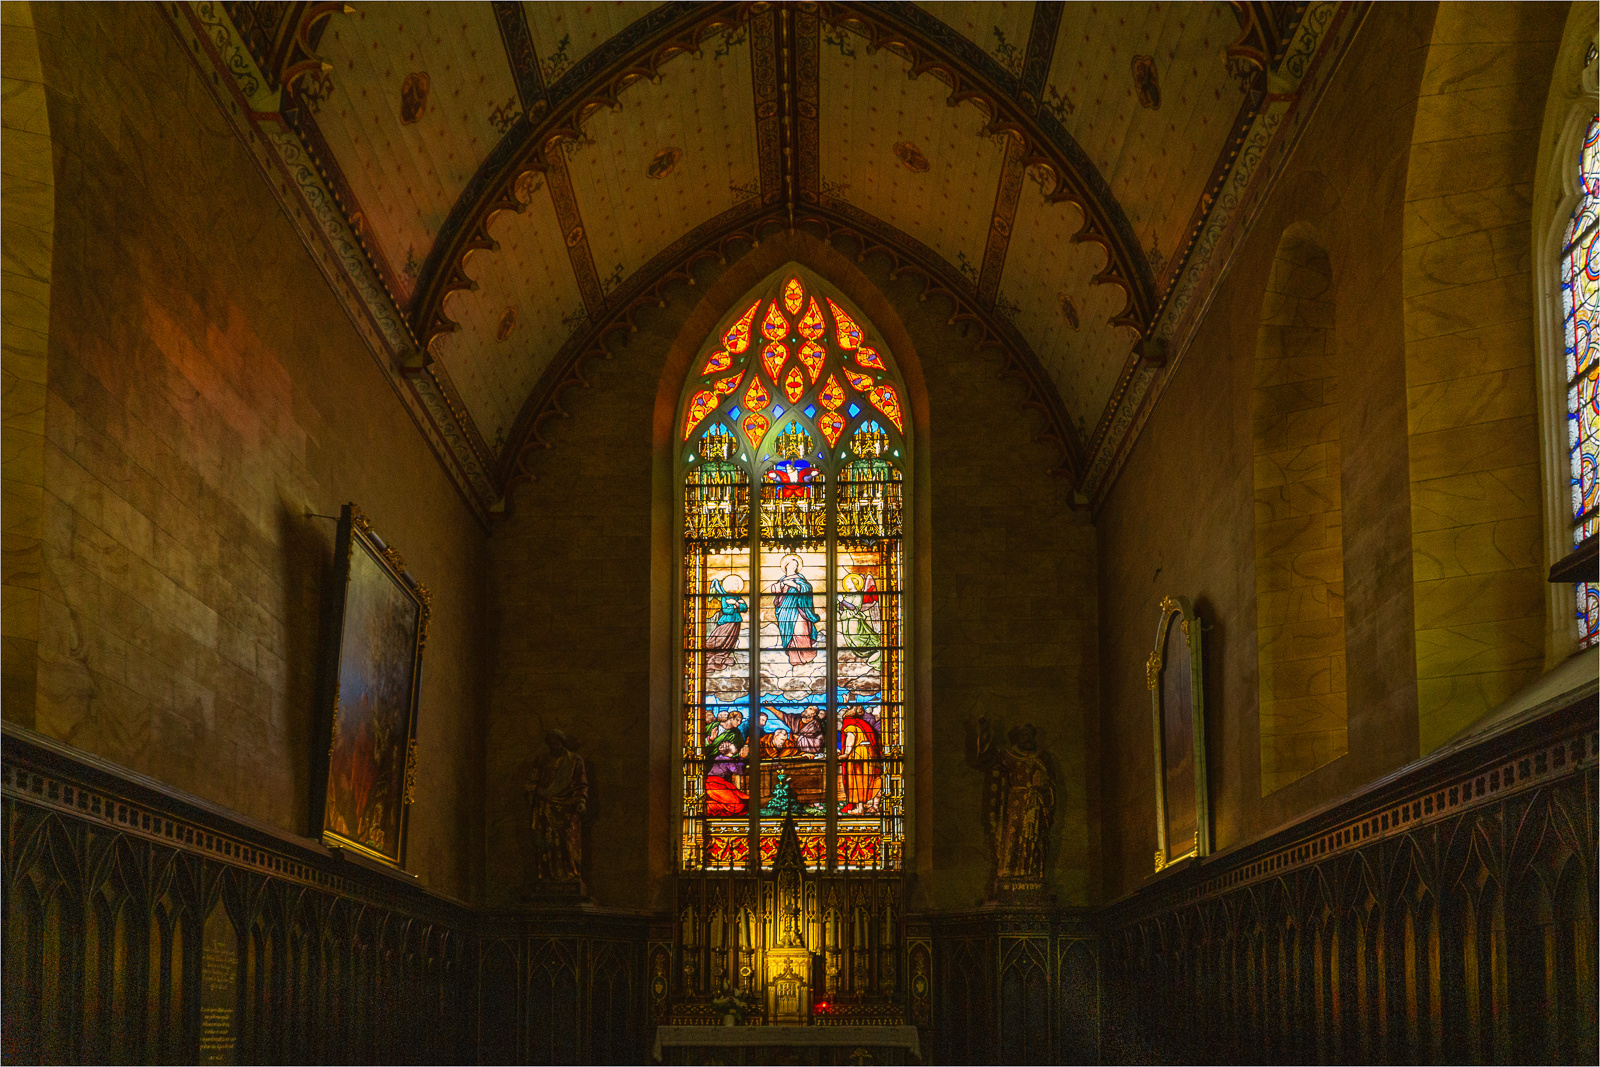
[(326, 845), (403, 867), (429, 593), (355, 504), (339, 512), (333, 555), (314, 832)]

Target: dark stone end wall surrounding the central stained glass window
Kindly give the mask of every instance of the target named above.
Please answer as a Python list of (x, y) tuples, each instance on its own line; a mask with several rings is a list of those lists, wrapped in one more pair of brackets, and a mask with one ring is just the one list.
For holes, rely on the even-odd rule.
[(997, 729), (1034, 721), (1056, 755), (1051, 878), (1062, 902), (1086, 902), (1096, 699), (1088, 515), (1072, 510), (1070, 485), (1048, 474), (1054, 454), (1034, 443), (1019, 387), (998, 381), (997, 357), (947, 325), (944, 301), (922, 302), (922, 285), (891, 282), (882, 259), (858, 266), (805, 234), (773, 235), (754, 251), (736, 245), (726, 266), (704, 261), (694, 288), (670, 290), (610, 360), (586, 365), (592, 387), (565, 394), (570, 418), (546, 424), (552, 448), (490, 539), (490, 899), (514, 902), (528, 877), (522, 782), (544, 726), (574, 734), (589, 760), (592, 893), (602, 904), (645, 907), (664, 886), (675, 862), (661, 813), (672, 808), (678, 683), (664, 667), (677, 561), (662, 427), (688, 352), (789, 259), (872, 318), (914, 394), (922, 608), (912, 608), (920, 622), (909, 667), (918, 685), (912, 715), (922, 718), (912, 725), (922, 745), (912, 821), (922, 902), (971, 905), (987, 889), (982, 774), (968, 765), (966, 744), (979, 713)]

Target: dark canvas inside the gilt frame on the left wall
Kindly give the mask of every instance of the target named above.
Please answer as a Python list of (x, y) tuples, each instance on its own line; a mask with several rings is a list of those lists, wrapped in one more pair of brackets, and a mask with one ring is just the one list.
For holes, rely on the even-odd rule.
[(322, 830), (400, 864), (424, 608), (355, 531), (349, 568)]

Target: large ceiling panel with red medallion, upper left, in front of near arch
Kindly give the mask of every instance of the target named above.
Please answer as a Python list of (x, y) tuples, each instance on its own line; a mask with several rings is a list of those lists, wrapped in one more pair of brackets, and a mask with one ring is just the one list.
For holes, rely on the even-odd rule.
[(309, 91), (317, 126), (405, 301), (456, 197), (515, 118), (494, 11), (363, 3), (328, 21), (320, 54), (333, 70)]

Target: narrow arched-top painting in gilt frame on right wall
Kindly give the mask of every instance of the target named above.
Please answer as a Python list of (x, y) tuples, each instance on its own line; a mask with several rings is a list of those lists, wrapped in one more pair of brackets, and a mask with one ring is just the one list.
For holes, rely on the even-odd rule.
[(1146, 681), (1155, 737), (1155, 870), (1160, 872), (1211, 853), (1200, 619), (1187, 597), (1162, 600)]

